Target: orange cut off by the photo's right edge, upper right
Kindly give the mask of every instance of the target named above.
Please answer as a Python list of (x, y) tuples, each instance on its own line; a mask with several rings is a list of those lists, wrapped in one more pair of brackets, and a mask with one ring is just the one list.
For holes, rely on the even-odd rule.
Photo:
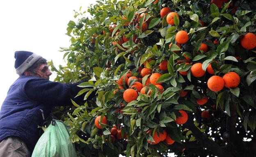
[(247, 33), (242, 36), (240, 44), (245, 49), (254, 49), (256, 47), (256, 35), (254, 33)]

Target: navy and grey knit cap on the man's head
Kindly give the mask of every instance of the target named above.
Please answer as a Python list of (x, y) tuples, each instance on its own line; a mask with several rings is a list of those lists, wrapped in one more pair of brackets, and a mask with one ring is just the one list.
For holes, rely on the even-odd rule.
[(14, 53), (14, 58), (16, 59), (14, 64), (16, 73), (21, 76), (42, 57), (29, 51), (16, 51)]

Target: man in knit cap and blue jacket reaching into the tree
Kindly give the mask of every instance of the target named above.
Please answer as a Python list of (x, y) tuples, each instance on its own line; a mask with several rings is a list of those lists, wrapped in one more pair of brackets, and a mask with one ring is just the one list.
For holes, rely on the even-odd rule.
[(0, 157), (30, 157), (39, 139), (38, 124), (52, 106), (72, 105), (71, 99), (82, 88), (49, 81), (52, 73), (46, 59), (35, 53), (16, 51), (14, 57), (20, 77), (9, 88), (0, 110)]

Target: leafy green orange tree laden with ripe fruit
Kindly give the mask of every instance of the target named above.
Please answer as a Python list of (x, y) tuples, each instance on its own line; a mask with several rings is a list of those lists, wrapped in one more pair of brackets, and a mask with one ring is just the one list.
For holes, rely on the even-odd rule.
[(255, 5), (99, 0), (91, 18), (75, 12), (67, 66), (51, 66), (57, 81), (86, 80), (85, 103), (55, 111), (78, 156), (253, 156)]

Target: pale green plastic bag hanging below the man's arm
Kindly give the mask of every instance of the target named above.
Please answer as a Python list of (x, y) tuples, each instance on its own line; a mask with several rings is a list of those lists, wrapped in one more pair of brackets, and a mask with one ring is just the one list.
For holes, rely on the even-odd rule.
[(32, 157), (77, 157), (66, 126), (62, 122), (54, 122), (55, 125), (50, 124), (39, 138)]

